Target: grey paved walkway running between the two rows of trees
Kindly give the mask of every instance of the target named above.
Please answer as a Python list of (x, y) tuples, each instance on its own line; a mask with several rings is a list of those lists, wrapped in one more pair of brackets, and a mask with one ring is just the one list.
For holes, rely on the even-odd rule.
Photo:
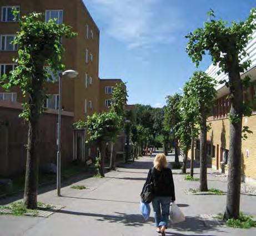
[[(168, 157), (173, 161), (173, 157)], [(139, 212), (139, 193), (152, 166), (153, 158), (143, 157), (135, 163), (109, 172), (106, 178), (89, 178), (76, 184), (88, 187), (84, 190), (62, 189), (63, 197), (56, 191), (40, 194), (44, 203), (66, 206), (49, 218), (0, 216), (0, 236), (151, 236), (154, 232), (153, 214), (144, 222)], [(198, 169), (195, 169), (198, 173)], [(198, 174), (195, 174), (197, 176)], [(243, 230), (207, 226), (202, 214), (223, 212), (225, 195), (187, 195), (185, 189), (197, 188), (198, 182), (185, 182), (184, 175), (174, 170), (177, 203), (187, 219), (167, 230), (167, 235), (256, 235), (256, 229)], [(209, 188), (226, 190), (224, 179), (208, 175)], [(256, 197), (242, 195), (244, 213), (256, 215)]]

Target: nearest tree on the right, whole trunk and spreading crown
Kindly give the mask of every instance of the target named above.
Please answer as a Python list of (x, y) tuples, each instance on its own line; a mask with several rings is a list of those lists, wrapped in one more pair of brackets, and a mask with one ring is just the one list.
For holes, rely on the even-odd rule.
[(212, 19), (204, 23), (204, 28), (198, 28), (187, 35), (187, 53), (198, 66), (205, 51), (208, 51), (214, 66), (218, 65), (220, 72), (228, 74), (228, 81), (224, 83), (229, 88), (231, 108), (228, 189), (224, 218), (237, 219), (240, 209), (242, 117), (243, 114), (250, 114), (243, 104), (243, 81), (240, 73), (250, 67), (250, 61), (242, 59), (248, 54), (245, 46), (256, 29), (256, 10), (253, 8), (245, 21), (230, 24), (222, 19), (216, 21), (212, 10), (208, 14)]

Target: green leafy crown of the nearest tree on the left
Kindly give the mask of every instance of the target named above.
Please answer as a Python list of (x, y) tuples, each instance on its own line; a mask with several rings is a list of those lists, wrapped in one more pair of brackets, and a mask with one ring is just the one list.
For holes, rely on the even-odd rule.
[[(14, 14), (18, 14), (17, 11), (14, 11)], [(24, 97), (29, 95), (29, 102), (23, 104), (21, 114), (27, 121), (33, 116), (32, 110), (36, 110), (37, 113), (43, 111), (46, 93), (42, 87), (48, 78), (52, 78), (44, 66), (48, 65), (54, 75), (64, 69), (64, 48), (59, 39), (73, 38), (77, 35), (72, 32), (70, 26), (57, 24), (53, 20), (46, 23), (42, 18), (41, 13), (31, 13), (21, 18), (20, 31), (12, 42), (19, 46), (18, 58), (13, 60), (18, 66), (10, 76), (2, 77), (4, 89), (19, 86)]]

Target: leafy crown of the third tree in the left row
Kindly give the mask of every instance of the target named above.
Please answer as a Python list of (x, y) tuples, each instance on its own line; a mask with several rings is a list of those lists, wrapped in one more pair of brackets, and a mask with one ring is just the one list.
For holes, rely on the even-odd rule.
[(126, 84), (119, 83), (113, 89), (110, 111), (116, 112), (118, 116), (124, 117), (124, 106), (127, 103)]

